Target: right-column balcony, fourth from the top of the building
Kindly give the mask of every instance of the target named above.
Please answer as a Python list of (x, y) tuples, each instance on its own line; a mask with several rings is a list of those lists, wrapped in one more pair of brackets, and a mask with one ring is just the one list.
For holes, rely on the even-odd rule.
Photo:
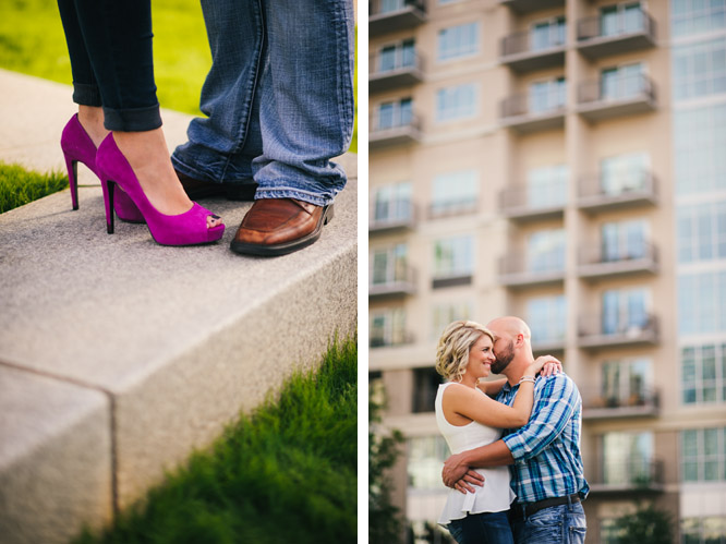
[(578, 275), (588, 280), (637, 274), (656, 274), (658, 252), (652, 243), (638, 246), (601, 247), (591, 243), (580, 250)]

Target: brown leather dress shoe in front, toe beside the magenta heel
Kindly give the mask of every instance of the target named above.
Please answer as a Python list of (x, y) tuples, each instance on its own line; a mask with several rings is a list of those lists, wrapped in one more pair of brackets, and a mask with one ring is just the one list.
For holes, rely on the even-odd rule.
[(230, 247), (247, 255), (286, 255), (320, 238), (332, 219), (332, 204), (315, 206), (294, 198), (255, 201), (240, 225)]

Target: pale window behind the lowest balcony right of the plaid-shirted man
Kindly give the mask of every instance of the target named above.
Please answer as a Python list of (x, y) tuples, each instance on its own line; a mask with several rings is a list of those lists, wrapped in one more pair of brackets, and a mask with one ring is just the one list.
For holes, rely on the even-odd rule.
[(654, 480), (652, 433), (607, 433), (602, 444), (604, 484), (629, 486)]

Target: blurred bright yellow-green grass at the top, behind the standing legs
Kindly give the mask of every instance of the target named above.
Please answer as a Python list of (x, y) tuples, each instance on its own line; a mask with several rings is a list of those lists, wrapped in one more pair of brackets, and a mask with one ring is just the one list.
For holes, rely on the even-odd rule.
[[(211, 55), (199, 2), (154, 0), (152, 10), (159, 104), (201, 114), (199, 92), (211, 65)], [(71, 63), (53, 0), (0, 2), (0, 67), (71, 84)], [(351, 150), (358, 150), (358, 132)]]

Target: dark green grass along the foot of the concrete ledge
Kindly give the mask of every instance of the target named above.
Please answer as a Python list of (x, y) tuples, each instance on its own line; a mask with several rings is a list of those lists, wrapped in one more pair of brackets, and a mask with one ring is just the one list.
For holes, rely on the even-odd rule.
[(356, 358), (354, 340), (332, 346), (143, 506), (75, 543), (356, 542)]

